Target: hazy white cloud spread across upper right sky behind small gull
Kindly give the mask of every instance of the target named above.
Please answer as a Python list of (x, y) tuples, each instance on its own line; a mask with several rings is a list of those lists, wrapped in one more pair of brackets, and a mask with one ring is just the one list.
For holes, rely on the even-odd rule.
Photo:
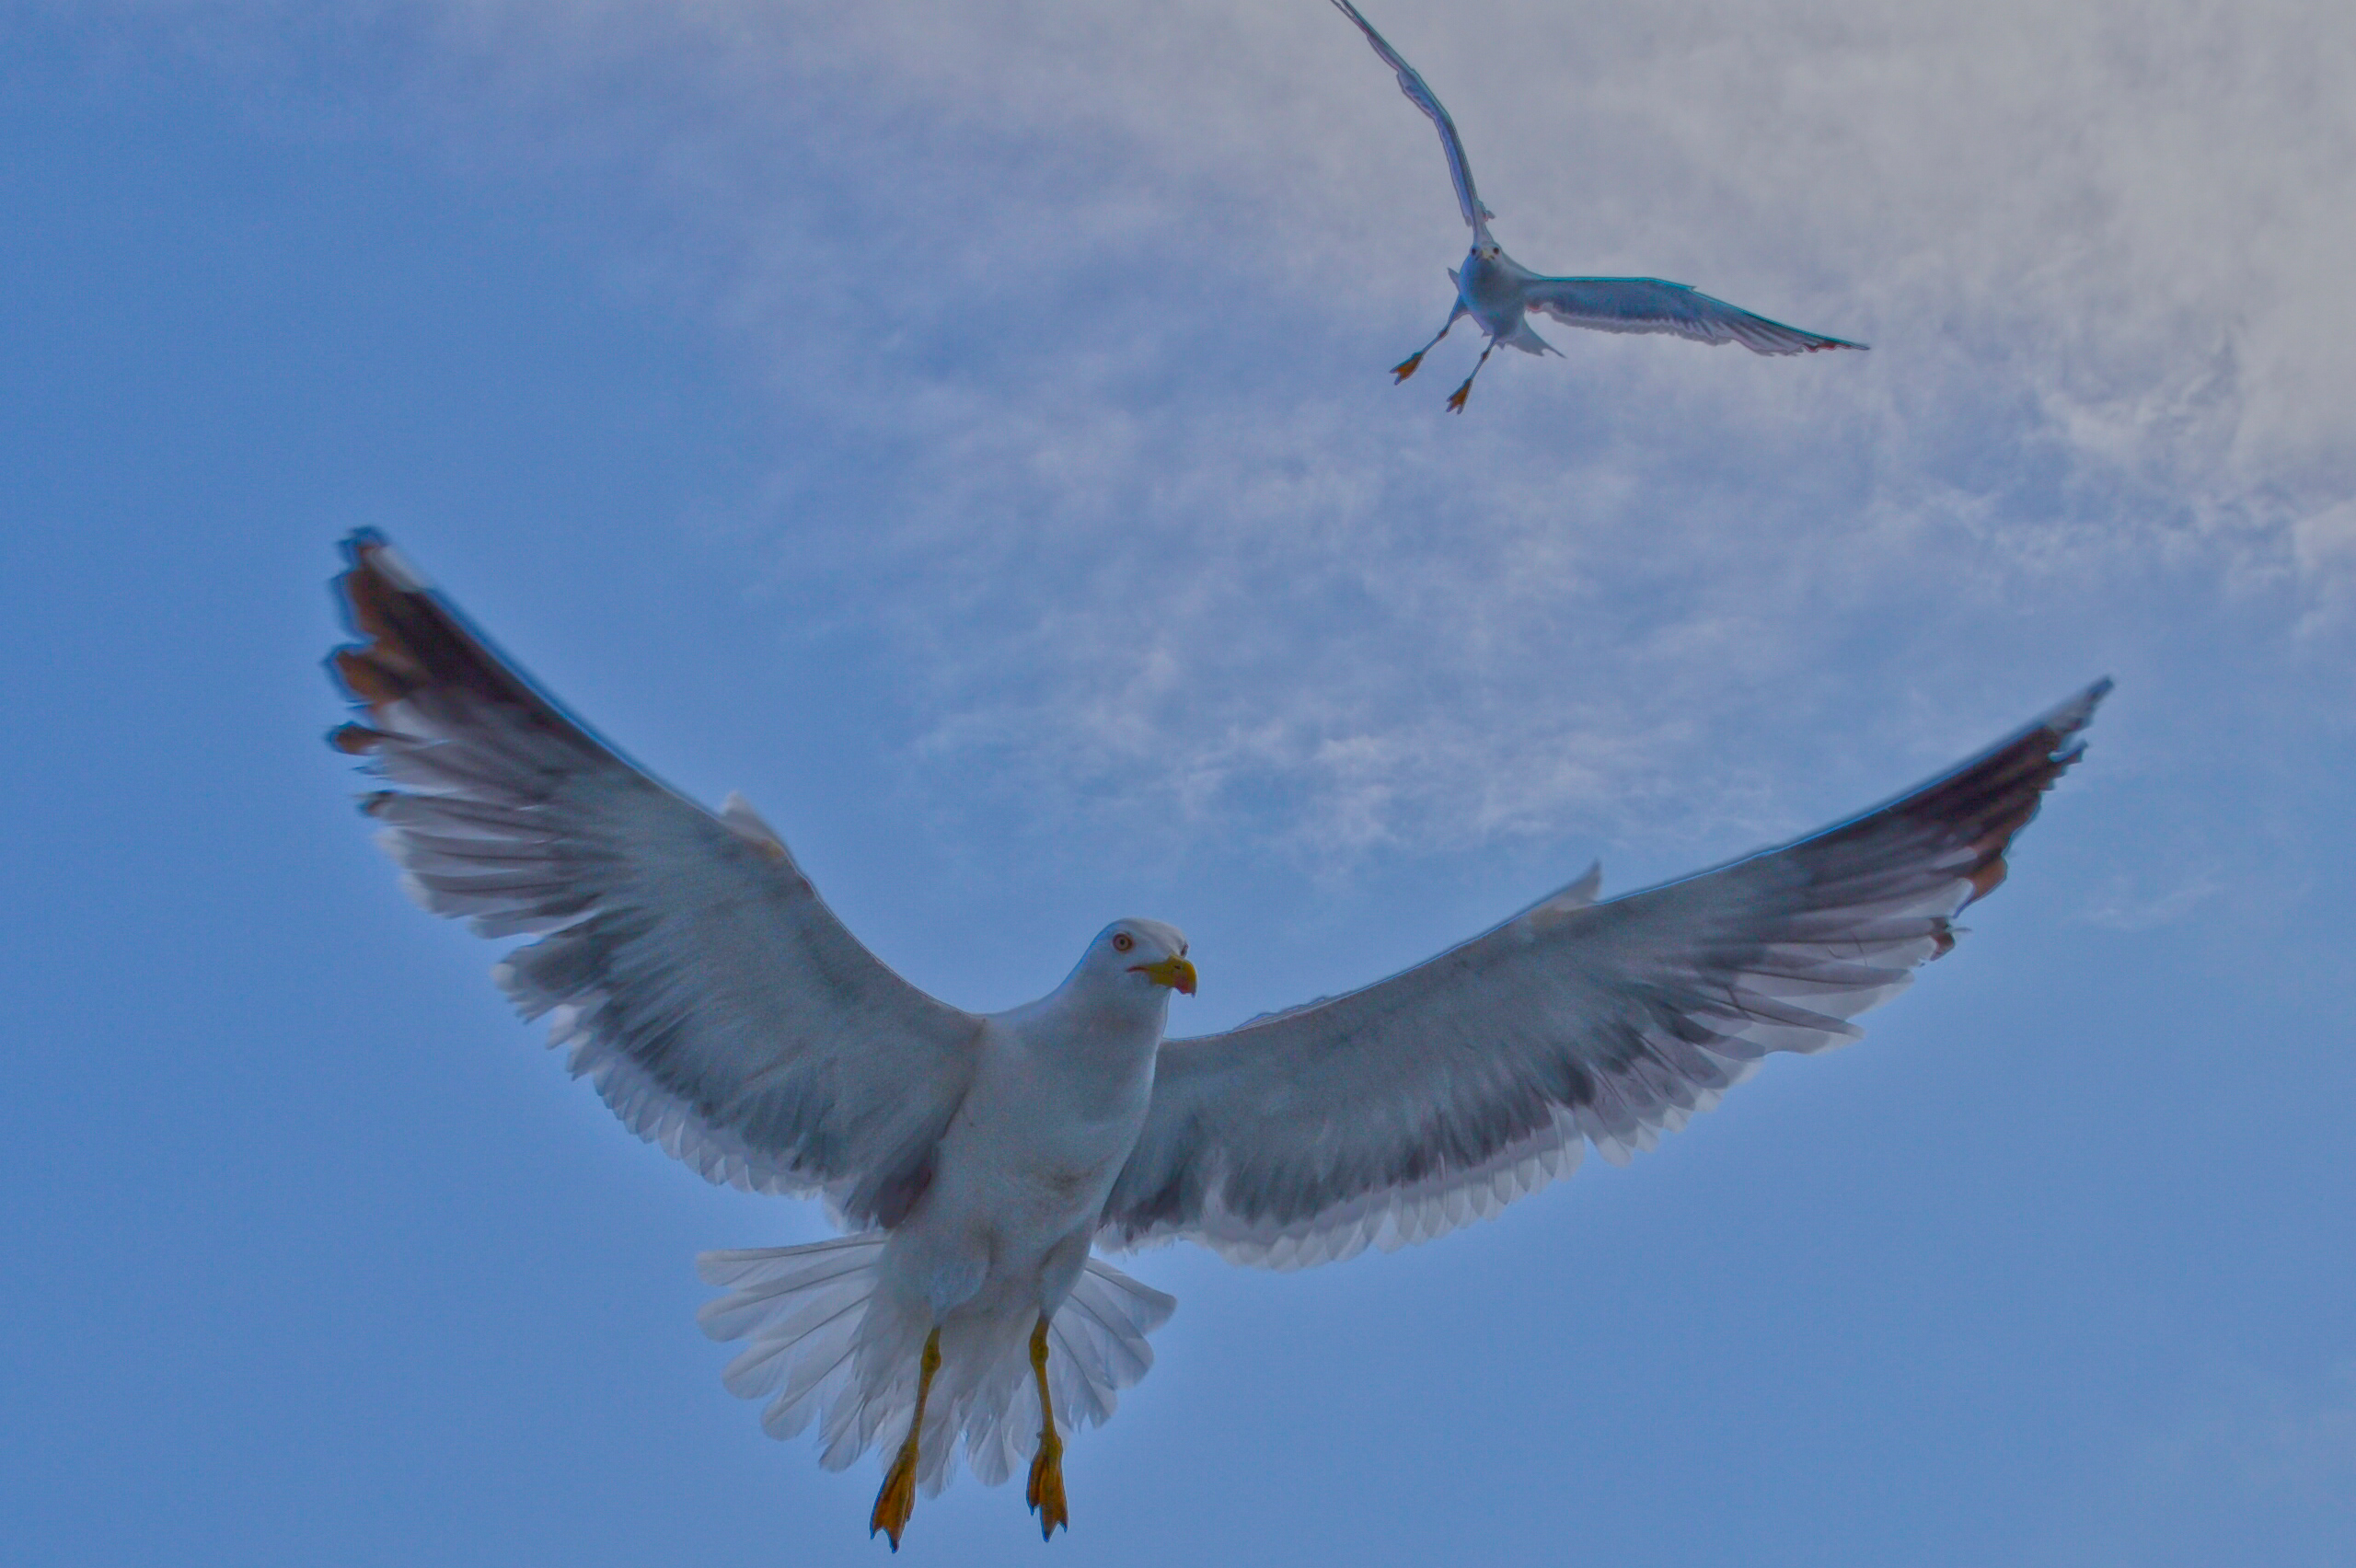
[(1765, 836), (1767, 777), (1887, 789), (2344, 591), (2344, 7), (1390, 0), (1524, 261), (1875, 344), (1555, 330), (1463, 419), (1463, 341), (1381, 377), (1463, 247), (1437, 144), (1312, 0), (365, 16), (304, 59), (598, 181), (622, 287), (775, 398), (773, 499), (704, 525), (928, 673), (921, 765), (1041, 812)]

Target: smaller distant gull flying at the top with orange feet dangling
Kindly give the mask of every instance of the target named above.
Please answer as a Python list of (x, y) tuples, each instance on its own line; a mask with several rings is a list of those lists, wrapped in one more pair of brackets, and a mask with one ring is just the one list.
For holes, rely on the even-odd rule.
[[(1472, 226), (1472, 250), (1465, 254), (1465, 264), (1449, 273), (1449, 280), (1456, 283), (1456, 304), (1430, 344), (1423, 344), (1390, 367), (1390, 374), (1399, 381), (1416, 374), (1423, 356), (1465, 315), (1489, 334), (1489, 346), (1480, 351), (1472, 377), (1489, 363), (1489, 353), (1498, 344), (1510, 344), (1522, 353), (1557, 353), (1553, 344), (1531, 332), (1531, 311), (1546, 311), (1567, 327), (1675, 332), (1696, 344), (1741, 344), (1753, 353), (1864, 348), (1864, 344), (1824, 337), (1821, 332), (1802, 332), (1800, 327), (1753, 315), (1751, 311), (1729, 306), (1725, 299), (1710, 299), (1685, 283), (1663, 283), (1661, 278), (1541, 278), (1529, 271), (1489, 235), (1489, 221), (1496, 214), (1489, 212), (1472, 188), (1472, 165), (1465, 162), (1465, 144), (1456, 134), (1456, 120), (1449, 118), (1449, 111), (1425, 87), (1423, 75), (1390, 47), (1390, 40), (1374, 31), (1374, 24), (1350, 0), (1333, 0), (1333, 5), (1357, 24), (1357, 31), (1366, 35), (1366, 42), (1383, 57), (1383, 64), (1399, 73), (1399, 92), (1407, 94), (1407, 101), (1428, 113), (1432, 125), (1440, 127), (1440, 148), (1449, 155), (1449, 179), (1456, 181), (1456, 207), (1463, 210), (1465, 224)], [(1463, 386), (1449, 393), (1449, 407), (1458, 414), (1465, 410), (1465, 398), (1472, 396), (1472, 377), (1465, 377)]]

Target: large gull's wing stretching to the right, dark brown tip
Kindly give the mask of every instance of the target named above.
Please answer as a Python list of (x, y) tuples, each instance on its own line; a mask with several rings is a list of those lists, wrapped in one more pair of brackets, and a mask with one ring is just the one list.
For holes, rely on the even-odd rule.
[(2109, 680), (1878, 810), (1677, 883), (1593, 876), (1404, 975), (1162, 1048), (1098, 1241), (1301, 1267), (1623, 1163), (1955, 944)]

